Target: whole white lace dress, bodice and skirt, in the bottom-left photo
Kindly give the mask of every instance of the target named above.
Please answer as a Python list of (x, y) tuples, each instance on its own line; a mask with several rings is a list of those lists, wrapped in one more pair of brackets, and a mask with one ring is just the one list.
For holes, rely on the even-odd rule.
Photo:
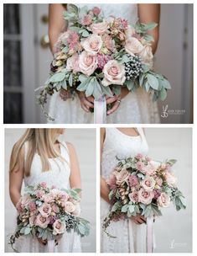
[[(25, 153), (27, 153), (28, 143), (25, 142)], [(60, 159), (49, 158), (51, 170), (42, 172), (42, 165), (39, 155), (36, 153), (31, 166), (31, 174), (29, 177), (24, 177), (24, 184), (34, 185), (40, 182), (45, 182), (56, 188), (70, 188), (70, 157), (66, 143), (60, 144), (61, 156), (65, 158), (63, 163)], [(25, 154), (26, 158), (26, 154)], [(26, 159), (25, 159), (26, 161)], [(16, 248), (20, 253), (47, 253), (48, 247), (38, 242), (36, 237), (19, 237), (16, 240)], [(80, 253), (80, 237), (74, 233), (65, 233), (60, 239), (60, 242), (54, 249), (55, 253)]]

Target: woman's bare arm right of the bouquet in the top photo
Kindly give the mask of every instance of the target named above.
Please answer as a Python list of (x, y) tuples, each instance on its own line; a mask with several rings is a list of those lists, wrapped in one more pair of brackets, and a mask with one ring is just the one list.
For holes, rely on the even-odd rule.
[(153, 54), (157, 50), (158, 47), (158, 36), (159, 36), (159, 19), (160, 19), (160, 4), (154, 4), (154, 3), (139, 3), (138, 4), (138, 17), (140, 23), (151, 23), (155, 22), (158, 24), (158, 26), (148, 31), (149, 35), (153, 35), (154, 41), (152, 42), (152, 50)]

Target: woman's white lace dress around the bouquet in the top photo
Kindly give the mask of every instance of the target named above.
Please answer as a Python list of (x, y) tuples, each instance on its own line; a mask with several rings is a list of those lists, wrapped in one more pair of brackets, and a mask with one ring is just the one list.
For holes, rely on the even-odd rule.
[[(127, 19), (129, 23), (137, 22), (137, 4), (86, 4), (89, 8), (101, 7), (105, 17), (110, 15)], [(83, 6), (78, 4), (79, 7)], [(78, 96), (74, 100), (60, 99), (60, 93), (54, 93), (50, 99), (49, 115), (54, 117), (52, 123), (57, 124), (89, 124), (94, 123), (94, 114), (86, 113), (80, 107)], [(145, 124), (159, 123), (158, 106), (151, 96), (138, 88), (128, 93), (116, 112), (107, 116), (109, 124)]]

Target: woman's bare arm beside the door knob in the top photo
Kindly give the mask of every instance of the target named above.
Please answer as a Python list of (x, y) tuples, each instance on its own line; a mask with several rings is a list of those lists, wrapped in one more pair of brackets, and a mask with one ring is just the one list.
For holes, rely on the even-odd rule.
[(65, 8), (61, 3), (49, 4), (49, 44), (52, 53), (59, 35), (65, 31), (65, 19), (63, 19)]

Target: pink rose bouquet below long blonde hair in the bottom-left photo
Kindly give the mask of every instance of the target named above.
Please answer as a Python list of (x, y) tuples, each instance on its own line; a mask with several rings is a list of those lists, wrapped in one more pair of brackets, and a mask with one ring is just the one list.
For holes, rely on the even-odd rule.
[(49, 189), (44, 182), (27, 186), (17, 204), (17, 227), (10, 237), (12, 248), (20, 236), (31, 235), (48, 243), (59, 241), (65, 232), (71, 230), (80, 237), (87, 236), (90, 223), (80, 218), (79, 192), (80, 189)]

